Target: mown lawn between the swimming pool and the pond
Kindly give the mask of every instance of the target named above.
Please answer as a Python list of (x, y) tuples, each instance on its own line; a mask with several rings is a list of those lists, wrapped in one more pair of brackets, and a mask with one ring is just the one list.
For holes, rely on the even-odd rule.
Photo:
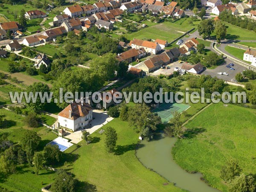
[[(63, 166), (77, 179), (96, 185), (98, 191), (181, 191), (157, 173), (146, 169), (135, 157), (134, 150), (139, 135), (120, 119), (113, 119), (106, 126), (116, 129), (118, 140), (116, 154), (105, 149), (105, 134), (93, 133), (93, 143), (81, 141), (73, 154), (79, 158), (71, 165)], [(81, 166), (83, 165), (83, 166)], [(164, 183), (168, 183), (164, 185)], [(84, 192), (84, 189), (81, 189)]]

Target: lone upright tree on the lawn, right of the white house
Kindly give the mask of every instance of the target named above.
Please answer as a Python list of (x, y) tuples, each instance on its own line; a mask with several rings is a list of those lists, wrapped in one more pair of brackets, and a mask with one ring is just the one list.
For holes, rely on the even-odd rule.
[(117, 134), (116, 130), (112, 127), (107, 127), (105, 131), (105, 146), (109, 153), (112, 153), (116, 147)]

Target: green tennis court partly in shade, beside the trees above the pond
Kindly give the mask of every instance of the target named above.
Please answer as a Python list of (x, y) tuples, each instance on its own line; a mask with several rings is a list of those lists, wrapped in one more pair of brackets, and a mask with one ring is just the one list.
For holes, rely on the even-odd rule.
[(172, 119), (172, 112), (182, 112), (188, 109), (190, 106), (182, 103), (162, 103), (152, 112), (157, 113), (161, 117), (163, 123), (168, 123)]

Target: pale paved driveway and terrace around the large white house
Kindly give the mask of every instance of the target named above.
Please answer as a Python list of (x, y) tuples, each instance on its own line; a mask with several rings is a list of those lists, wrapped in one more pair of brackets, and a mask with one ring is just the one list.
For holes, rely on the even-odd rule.
[[(86, 131), (92, 134), (113, 119), (113, 117), (108, 116), (107, 111), (93, 110), (93, 120), (90, 122), (90, 128), (87, 128)], [(67, 135), (65, 137), (70, 139), (72, 143), (77, 144), (82, 140), (82, 131), (83, 129), (73, 133), (67, 131)]]

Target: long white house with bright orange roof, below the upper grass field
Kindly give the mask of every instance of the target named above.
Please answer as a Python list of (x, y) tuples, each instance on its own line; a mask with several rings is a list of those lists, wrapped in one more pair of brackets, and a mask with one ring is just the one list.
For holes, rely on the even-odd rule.
[(159, 44), (151, 41), (143, 41), (140, 39), (135, 39), (130, 42), (131, 48), (140, 49), (144, 48), (146, 52), (156, 55), (161, 51)]

